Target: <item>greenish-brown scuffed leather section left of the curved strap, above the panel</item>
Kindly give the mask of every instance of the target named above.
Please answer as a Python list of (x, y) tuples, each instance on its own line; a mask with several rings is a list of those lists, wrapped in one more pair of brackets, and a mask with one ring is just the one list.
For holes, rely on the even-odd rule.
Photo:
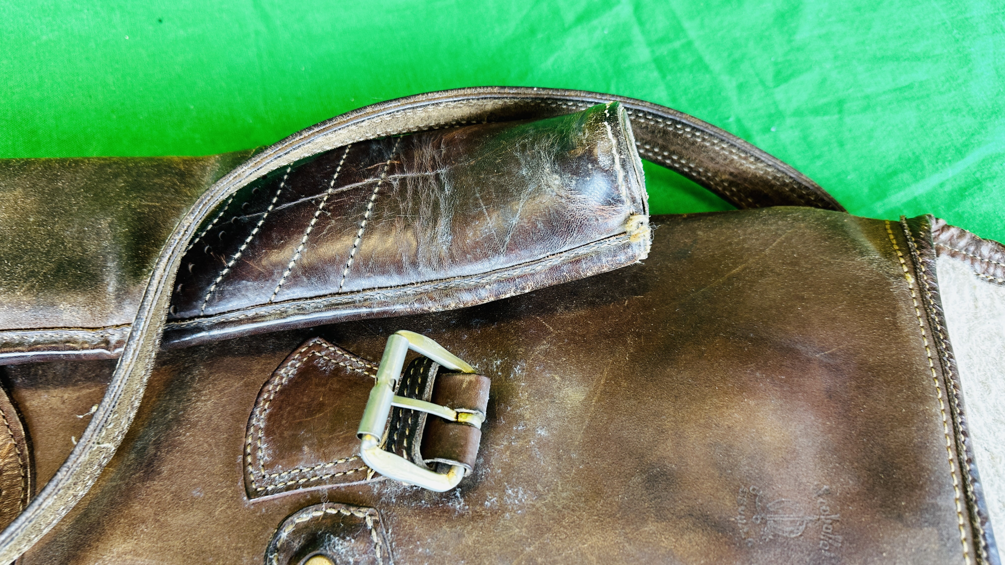
[(0, 160), (0, 364), (118, 356), (168, 234), (250, 155)]

